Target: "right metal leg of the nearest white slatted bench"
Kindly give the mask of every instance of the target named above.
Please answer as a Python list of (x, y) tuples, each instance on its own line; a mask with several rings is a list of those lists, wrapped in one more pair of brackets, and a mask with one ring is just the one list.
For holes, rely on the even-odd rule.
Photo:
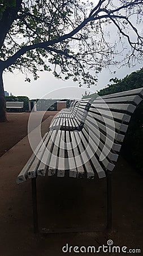
[(111, 184), (111, 172), (106, 172), (107, 178), (107, 230), (112, 229), (112, 184)]

